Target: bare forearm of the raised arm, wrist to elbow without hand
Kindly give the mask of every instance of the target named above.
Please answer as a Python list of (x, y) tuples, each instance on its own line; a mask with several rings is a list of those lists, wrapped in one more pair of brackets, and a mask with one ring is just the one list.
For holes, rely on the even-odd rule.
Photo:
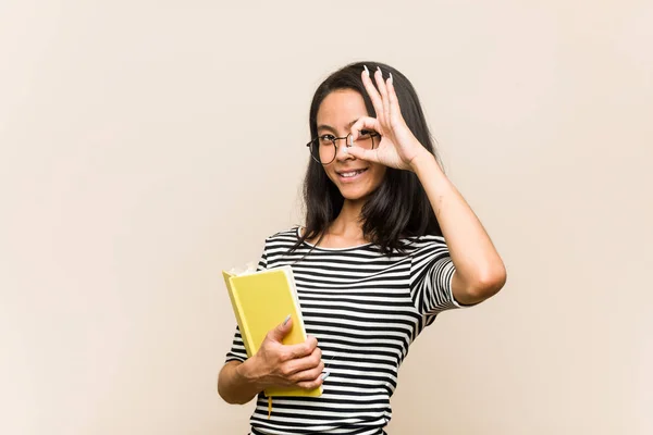
[(492, 296), (505, 283), (505, 268), (483, 225), (431, 153), (414, 159), (412, 170), (429, 197), (456, 268), (456, 296), (465, 299), (459, 301), (476, 303)]

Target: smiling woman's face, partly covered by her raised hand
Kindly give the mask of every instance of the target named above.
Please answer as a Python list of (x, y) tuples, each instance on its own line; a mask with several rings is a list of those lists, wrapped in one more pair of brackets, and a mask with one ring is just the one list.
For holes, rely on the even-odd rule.
[[(353, 89), (338, 89), (329, 94), (318, 109), (318, 136), (345, 137), (352, 125), (362, 116), (369, 116), (362, 96)], [(375, 137), (374, 144), (380, 138)], [(324, 165), (329, 178), (350, 201), (365, 200), (373, 192), (385, 176), (386, 167), (349, 156), (345, 139), (337, 140), (337, 152), (333, 162)]]

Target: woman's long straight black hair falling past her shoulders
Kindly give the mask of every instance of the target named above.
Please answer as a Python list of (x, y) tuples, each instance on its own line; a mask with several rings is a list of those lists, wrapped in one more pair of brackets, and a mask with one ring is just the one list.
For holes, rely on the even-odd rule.
[[(387, 73), (392, 73), (402, 115), (408, 128), (410, 128), (417, 140), (440, 161), (412, 85), (397, 70), (378, 62), (352, 63), (331, 74), (322, 82), (310, 104), (309, 127), (311, 137), (318, 136), (317, 115), (320, 104), (334, 90), (352, 89), (357, 91), (362, 96), (370, 116), (375, 116), (372, 101), (360, 78), (364, 65), (367, 65), (372, 73), (377, 67), (381, 67), (384, 77), (387, 76)], [(343, 196), (333, 182), (329, 179), (322, 165), (310, 157), (308, 161), (308, 170), (304, 179), (306, 229), (292, 250), (307, 239), (319, 237), (321, 240), (329, 225), (337, 217), (344, 203)], [(401, 251), (403, 238), (442, 235), (427, 194), (417, 175), (410, 171), (387, 167), (381, 185), (368, 197), (362, 207), (361, 220), (364, 237), (378, 245), (385, 254), (390, 254), (393, 250)]]

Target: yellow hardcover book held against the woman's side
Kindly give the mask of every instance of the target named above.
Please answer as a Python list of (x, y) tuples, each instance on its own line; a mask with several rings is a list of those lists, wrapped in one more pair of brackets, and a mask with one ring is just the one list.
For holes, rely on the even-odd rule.
[[(266, 335), (279, 326), (291, 314), (293, 328), (283, 338), (284, 345), (296, 345), (306, 340), (306, 330), (291, 266), (269, 269), (260, 272), (233, 274), (222, 272), (226, 289), (247, 357), (254, 356)], [(267, 388), (266, 396), (320, 396), (322, 387), (311, 390), (301, 388)]]

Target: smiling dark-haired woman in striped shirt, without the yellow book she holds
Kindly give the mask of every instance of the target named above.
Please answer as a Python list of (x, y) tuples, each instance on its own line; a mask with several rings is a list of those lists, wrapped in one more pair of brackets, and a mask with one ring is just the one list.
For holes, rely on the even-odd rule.
[(321, 397), (275, 398), (271, 415), (259, 395), (252, 434), (383, 434), (410, 343), (440, 312), (496, 294), (506, 271), (398, 71), (333, 73), (309, 124), (306, 227), (269, 237), (259, 263), (292, 265), (309, 338), (282, 345), (286, 320), (247, 359), (236, 331), (218, 389), (245, 403), (272, 385), (322, 386)]

